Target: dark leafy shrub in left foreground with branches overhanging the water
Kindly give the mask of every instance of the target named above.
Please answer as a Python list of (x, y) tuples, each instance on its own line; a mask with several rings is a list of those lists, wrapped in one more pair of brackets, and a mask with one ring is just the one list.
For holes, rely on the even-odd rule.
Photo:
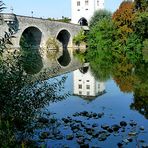
[(34, 76), (25, 74), (19, 53), (6, 51), (0, 59), (0, 147), (16, 147), (16, 135), (20, 140), (28, 136), (40, 109), (66, 97), (59, 93), (66, 77), (33, 83)]

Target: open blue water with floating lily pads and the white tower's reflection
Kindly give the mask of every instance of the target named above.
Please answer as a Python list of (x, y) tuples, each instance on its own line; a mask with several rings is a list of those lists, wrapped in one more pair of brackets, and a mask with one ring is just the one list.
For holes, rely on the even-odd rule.
[[(95, 79), (90, 68), (77, 69), (49, 79), (66, 77), (62, 93), (43, 112), (53, 121), (36, 130), (38, 145), (45, 147), (148, 147), (148, 120), (136, 110), (133, 93), (123, 93), (113, 79)], [(145, 100), (146, 101), (146, 100)], [(140, 100), (139, 100), (140, 102)], [(140, 103), (139, 103), (140, 104)], [(140, 113), (141, 112), (141, 113)]]

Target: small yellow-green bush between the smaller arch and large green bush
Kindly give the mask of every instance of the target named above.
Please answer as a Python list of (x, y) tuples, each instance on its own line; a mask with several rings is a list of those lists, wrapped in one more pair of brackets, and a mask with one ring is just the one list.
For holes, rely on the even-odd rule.
[(76, 45), (80, 45), (81, 43), (83, 43), (85, 41), (86, 41), (86, 34), (85, 34), (84, 30), (80, 30), (80, 32), (76, 36), (74, 36), (74, 38), (73, 38), (73, 42)]

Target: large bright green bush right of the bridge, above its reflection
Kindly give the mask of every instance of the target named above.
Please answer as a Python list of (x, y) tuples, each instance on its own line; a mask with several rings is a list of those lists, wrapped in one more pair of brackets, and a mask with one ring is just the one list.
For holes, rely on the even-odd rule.
[(91, 28), (88, 34), (88, 58), (99, 55), (99, 52), (104, 51), (111, 54), (114, 49), (114, 41), (116, 40), (116, 28), (111, 19), (104, 18)]

